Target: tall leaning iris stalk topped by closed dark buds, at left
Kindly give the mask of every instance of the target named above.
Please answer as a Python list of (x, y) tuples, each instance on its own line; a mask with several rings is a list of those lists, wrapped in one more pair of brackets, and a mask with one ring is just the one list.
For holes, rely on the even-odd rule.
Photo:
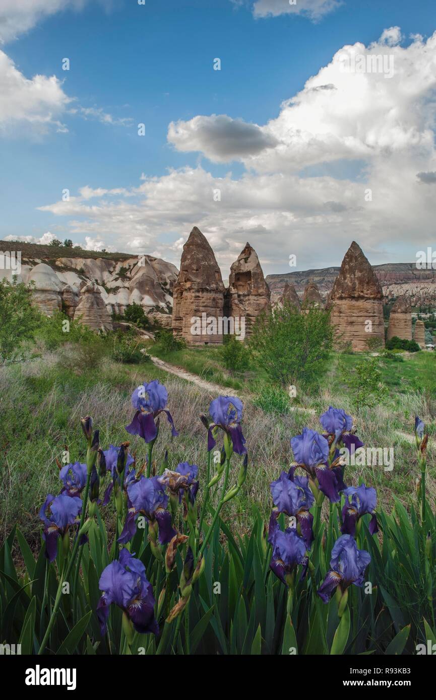
[[(48, 639), (50, 637), (50, 633), (53, 629), (53, 625), (55, 624), (55, 619), (57, 616), (57, 612), (60, 607), (60, 601), (62, 600), (62, 586), (64, 584), (64, 581), (67, 581), (71, 575), (71, 571), (73, 570), (74, 562), (76, 561), (76, 556), (79, 552), (79, 544), (81, 541), (81, 536), (84, 534), (86, 530), (89, 529), (89, 526), (91, 522), (85, 523), (85, 514), (86, 514), (86, 507), (88, 505), (88, 493), (89, 493), (89, 485), (90, 485), (90, 480), (91, 480), (91, 474), (93, 472), (93, 466), (95, 464), (95, 458), (97, 457), (97, 449), (98, 449), (98, 430), (95, 430), (94, 437), (93, 437), (93, 419), (90, 416), (86, 416), (86, 418), (81, 418), (81, 426), (83, 433), (86, 437), (86, 441), (88, 442), (88, 449), (86, 451), (86, 469), (88, 472), (87, 479), (86, 479), (86, 486), (85, 486), (85, 491), (83, 493), (83, 505), (82, 505), (82, 512), (81, 512), (81, 520), (80, 520), (80, 526), (79, 526), (79, 532), (76, 535), (76, 540), (74, 540), (74, 545), (73, 545), (73, 551), (71, 552), (71, 557), (69, 559), (68, 565), (64, 570), (62, 570), (62, 573), (59, 578), (59, 584), (57, 586), (57, 592), (56, 592), (56, 597), (55, 597), (55, 603), (53, 605), (53, 610), (50, 615), (50, 619), (48, 621), (46, 633), (43, 636), (43, 640), (41, 641), (41, 645), (38, 650), (39, 656), (41, 656), (46, 648)], [(82, 550), (80, 550), (82, 551)], [(74, 584), (73, 584), (73, 601), (76, 600), (76, 587), (77, 587), (77, 579), (79, 576), (79, 568), (80, 568), (80, 559), (78, 561), (78, 566), (74, 575)]]

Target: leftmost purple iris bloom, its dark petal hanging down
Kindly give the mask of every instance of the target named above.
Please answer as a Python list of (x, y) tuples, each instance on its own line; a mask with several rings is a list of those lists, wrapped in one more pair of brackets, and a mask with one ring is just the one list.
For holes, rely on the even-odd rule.
[(56, 559), (57, 538), (67, 533), (69, 526), (76, 522), (81, 509), (82, 501), (79, 496), (67, 496), (66, 493), (53, 496), (48, 493), (39, 511), (39, 517), (44, 524), (43, 539), (46, 542), (48, 561)]

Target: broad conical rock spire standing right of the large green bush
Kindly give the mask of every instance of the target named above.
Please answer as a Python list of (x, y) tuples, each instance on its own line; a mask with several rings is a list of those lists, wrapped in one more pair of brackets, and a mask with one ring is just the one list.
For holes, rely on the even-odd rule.
[(355, 241), (342, 260), (329, 299), (335, 335), (353, 350), (368, 349), (378, 337), (384, 346), (383, 292), (376, 274)]

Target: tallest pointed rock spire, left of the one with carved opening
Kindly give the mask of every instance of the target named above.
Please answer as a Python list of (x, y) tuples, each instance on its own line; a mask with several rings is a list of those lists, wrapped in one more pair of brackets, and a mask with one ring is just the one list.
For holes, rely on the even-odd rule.
[(172, 288), (172, 331), (191, 345), (221, 344), (224, 284), (214, 252), (194, 226), (183, 246), (180, 272)]

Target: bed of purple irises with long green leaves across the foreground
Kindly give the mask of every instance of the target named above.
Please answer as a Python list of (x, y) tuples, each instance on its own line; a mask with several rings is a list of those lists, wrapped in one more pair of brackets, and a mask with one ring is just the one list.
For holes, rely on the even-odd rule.
[[(168, 470), (164, 454), (160, 478), (151, 479), (166, 396), (158, 381), (144, 384), (149, 412), (128, 426), (145, 440), (140, 468), (128, 443), (103, 451), (92, 419), (81, 419), (85, 463), (67, 465), (62, 493), (46, 498), (36, 559), (16, 528), (0, 549), (2, 640), (20, 643), (22, 654), (92, 655), (415, 654), (427, 640), (435, 643), (436, 521), (425, 491), (428, 435), (420, 419), (421, 482), (410, 515), (398, 500), (391, 514), (377, 508), (376, 491), (365, 484), (344, 491), (348, 473), (330, 444), (343, 450), (358, 438), (351, 417), (330, 407), (320, 417), (328, 439), (305, 428), (291, 440), (304, 476), (278, 468), (268, 533), (254, 509), (250, 531), (237, 542), (222, 514), (250, 468), (242, 404), (219, 397), (211, 417), (202, 415), (205, 428), (221, 421), (202, 474), (187, 462)], [(212, 460), (218, 433), (223, 449)], [(112, 541), (100, 512), (109, 498)], [(15, 545), (24, 570), (13, 565)]]

